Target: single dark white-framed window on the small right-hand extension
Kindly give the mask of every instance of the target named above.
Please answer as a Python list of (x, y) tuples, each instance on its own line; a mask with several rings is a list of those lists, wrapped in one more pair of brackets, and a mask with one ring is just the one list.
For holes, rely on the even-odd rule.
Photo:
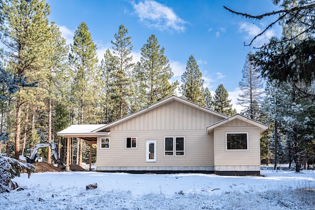
[(226, 150), (248, 150), (248, 132), (226, 133)]

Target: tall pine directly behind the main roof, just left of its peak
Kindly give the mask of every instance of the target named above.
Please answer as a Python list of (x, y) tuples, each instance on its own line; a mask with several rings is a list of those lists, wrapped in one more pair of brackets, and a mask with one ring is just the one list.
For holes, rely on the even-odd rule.
[(178, 82), (169, 83), (173, 76), (169, 60), (164, 56), (164, 48), (152, 34), (141, 48), (140, 68), (147, 94), (146, 105), (153, 104), (175, 93)]

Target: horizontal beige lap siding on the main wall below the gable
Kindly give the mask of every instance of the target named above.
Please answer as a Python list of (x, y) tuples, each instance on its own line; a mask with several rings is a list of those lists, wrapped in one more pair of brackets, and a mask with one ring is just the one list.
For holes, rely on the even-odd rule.
[[(131, 121), (131, 120), (130, 120)], [(184, 136), (185, 155), (165, 156), (164, 137)], [(111, 131), (110, 148), (100, 148), (97, 140), (97, 170), (103, 167), (214, 166), (213, 137), (202, 130)], [(126, 149), (126, 137), (137, 138), (136, 149)], [(146, 140), (156, 140), (156, 162), (146, 162)]]

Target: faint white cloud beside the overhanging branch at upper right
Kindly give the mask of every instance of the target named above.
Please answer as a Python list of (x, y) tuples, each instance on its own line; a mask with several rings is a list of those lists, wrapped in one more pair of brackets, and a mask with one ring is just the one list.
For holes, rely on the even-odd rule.
[[(239, 31), (240, 32), (245, 32), (245, 38), (249, 41), (252, 40), (252, 38), (254, 36), (256, 36), (257, 34), (261, 33), (263, 29), (259, 28), (257, 25), (251, 24), (251, 23), (247, 23), (247, 22), (242, 22), (240, 23), (240, 28)], [(276, 32), (275, 30), (271, 29), (271, 30), (267, 30), (266, 32), (264, 32), (261, 36), (258, 36), (255, 40), (255, 44), (256, 45), (263, 45), (264, 43), (267, 43), (268, 40), (272, 37), (275, 36)]]

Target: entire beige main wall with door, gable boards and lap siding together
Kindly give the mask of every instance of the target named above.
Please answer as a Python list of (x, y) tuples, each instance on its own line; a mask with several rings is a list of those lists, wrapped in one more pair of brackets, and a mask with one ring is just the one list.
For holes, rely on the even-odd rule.
[[(187, 104), (170, 101), (110, 127), (110, 148), (97, 139), (98, 171), (170, 170), (213, 171), (214, 141), (205, 128), (223, 118)], [(137, 148), (126, 148), (126, 138), (136, 137)], [(164, 155), (165, 137), (184, 137), (184, 155)], [(156, 140), (157, 160), (146, 162), (146, 140)]]

